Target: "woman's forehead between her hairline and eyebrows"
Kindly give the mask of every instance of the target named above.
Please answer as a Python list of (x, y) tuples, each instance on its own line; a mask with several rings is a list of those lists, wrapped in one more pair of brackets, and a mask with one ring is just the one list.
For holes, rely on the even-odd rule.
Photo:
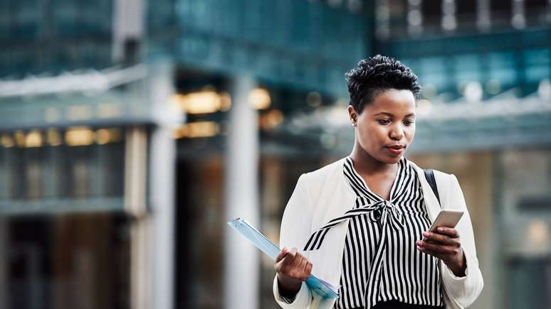
[(373, 101), (365, 104), (364, 112), (377, 114), (389, 112), (391, 114), (411, 114), (415, 112), (415, 97), (409, 90), (387, 90), (375, 95)]

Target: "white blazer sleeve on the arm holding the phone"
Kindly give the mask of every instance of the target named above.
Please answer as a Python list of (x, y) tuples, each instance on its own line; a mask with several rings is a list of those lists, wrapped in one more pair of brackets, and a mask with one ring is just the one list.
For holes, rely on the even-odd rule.
[(480, 295), (484, 286), (484, 281), (481, 270), (478, 268), (473, 224), (471, 223), (471, 217), (466, 207), (463, 191), (455, 175), (451, 175), (447, 208), (450, 210), (462, 210), (464, 212), (456, 229), (459, 233), (459, 237), (461, 237), (461, 247), (465, 254), (467, 268), (465, 271), (466, 276), (458, 277), (453, 274), (446, 264), (442, 263), (442, 281), (450, 300), (456, 303), (456, 305), (467, 307), (478, 298), (478, 295)]

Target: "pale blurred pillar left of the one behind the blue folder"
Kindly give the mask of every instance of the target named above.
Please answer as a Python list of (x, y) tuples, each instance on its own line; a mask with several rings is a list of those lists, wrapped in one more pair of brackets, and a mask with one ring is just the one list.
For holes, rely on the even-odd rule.
[(152, 101), (155, 126), (149, 148), (149, 259), (152, 276), (152, 305), (148, 308), (174, 308), (174, 185), (176, 172), (176, 141), (173, 129), (184, 121), (181, 111), (174, 109), (170, 98), (174, 92), (172, 65), (151, 67), (148, 92)]

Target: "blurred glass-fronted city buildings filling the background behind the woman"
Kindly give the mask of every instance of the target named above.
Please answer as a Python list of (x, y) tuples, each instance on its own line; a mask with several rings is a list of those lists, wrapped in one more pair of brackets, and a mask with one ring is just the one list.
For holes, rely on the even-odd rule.
[(344, 73), (420, 77), (420, 166), (458, 176), (486, 286), (551, 299), (551, 3), (101, 0), (0, 4), (0, 308), (276, 308), (301, 173), (350, 153)]

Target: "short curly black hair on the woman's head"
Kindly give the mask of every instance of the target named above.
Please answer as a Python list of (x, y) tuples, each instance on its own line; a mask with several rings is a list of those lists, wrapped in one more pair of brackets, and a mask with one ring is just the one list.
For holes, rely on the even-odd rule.
[(390, 89), (409, 90), (416, 99), (421, 93), (417, 75), (398, 60), (382, 55), (360, 60), (357, 67), (346, 73), (350, 105), (358, 114), (375, 95)]

